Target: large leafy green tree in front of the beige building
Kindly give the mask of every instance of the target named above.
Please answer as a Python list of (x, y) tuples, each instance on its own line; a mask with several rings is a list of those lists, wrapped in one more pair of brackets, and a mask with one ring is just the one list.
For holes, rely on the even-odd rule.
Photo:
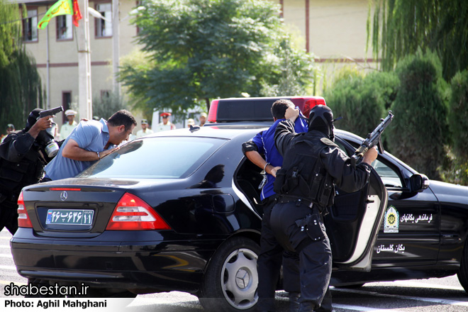
[[(291, 48), (279, 6), (262, 0), (155, 0), (136, 19), (143, 61), (123, 65), (136, 107), (185, 111), (211, 99), (302, 93), (313, 58)], [(272, 87), (271, 87), (272, 86)]]

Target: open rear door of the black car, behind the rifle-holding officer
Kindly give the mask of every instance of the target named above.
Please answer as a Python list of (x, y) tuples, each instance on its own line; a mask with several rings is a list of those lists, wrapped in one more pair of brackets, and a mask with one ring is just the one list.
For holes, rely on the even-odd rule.
[[(354, 149), (342, 140), (337, 143), (348, 155)], [(388, 194), (379, 174), (372, 169), (364, 189), (345, 193), (336, 189), (335, 204), (325, 216), (325, 227), (333, 253), (333, 267), (370, 271), (377, 233), (384, 218)]]

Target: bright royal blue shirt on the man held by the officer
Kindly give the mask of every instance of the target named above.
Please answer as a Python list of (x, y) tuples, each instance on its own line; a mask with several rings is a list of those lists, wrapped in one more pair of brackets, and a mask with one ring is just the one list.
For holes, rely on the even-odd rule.
[[(283, 157), (279, 154), (277, 147), (274, 145), (274, 130), (277, 128), (280, 121), (284, 121), (284, 119), (278, 119), (268, 130), (257, 133), (257, 135), (252, 138), (253, 143), (257, 145), (258, 152), (260, 152), (260, 154), (263, 153), (265, 160), (273, 167), (282, 167), (283, 165)], [(307, 130), (307, 122), (298, 117), (294, 123), (294, 131), (296, 131), (296, 133), (302, 133), (307, 132)], [(267, 174), (267, 184), (263, 186), (260, 199), (263, 200), (275, 194), (273, 191), (273, 183), (274, 177), (271, 174)]]

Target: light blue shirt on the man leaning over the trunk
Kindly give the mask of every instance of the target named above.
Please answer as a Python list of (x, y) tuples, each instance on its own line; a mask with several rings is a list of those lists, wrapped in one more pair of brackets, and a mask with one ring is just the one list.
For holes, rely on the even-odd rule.
[[(74, 177), (79, 174), (79, 172), (87, 169), (87, 167), (93, 165), (94, 162), (97, 161), (97, 154), (96, 160), (94, 161), (71, 160), (67, 157), (63, 157), (63, 147), (70, 139), (78, 143), (78, 146), (84, 150), (90, 150), (91, 152), (102, 152), (109, 140), (107, 121), (101, 118), (100, 121), (80, 122), (62, 144), (62, 147), (60, 147), (60, 150), (54, 159), (52, 159), (52, 161), (49, 162), (47, 166), (45, 166), (45, 177), (48, 177), (52, 180)], [(113, 147), (116, 147), (116, 145), (111, 144), (109, 145), (108, 149)]]

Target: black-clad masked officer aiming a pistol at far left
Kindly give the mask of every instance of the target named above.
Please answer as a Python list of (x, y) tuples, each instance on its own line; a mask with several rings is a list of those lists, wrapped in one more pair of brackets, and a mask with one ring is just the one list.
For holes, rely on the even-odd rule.
[(18, 196), (24, 186), (38, 183), (51, 158), (45, 147), (53, 139), (52, 117), (39, 118), (40, 108), (30, 112), (26, 128), (10, 133), (0, 145), (0, 230), (18, 229)]

